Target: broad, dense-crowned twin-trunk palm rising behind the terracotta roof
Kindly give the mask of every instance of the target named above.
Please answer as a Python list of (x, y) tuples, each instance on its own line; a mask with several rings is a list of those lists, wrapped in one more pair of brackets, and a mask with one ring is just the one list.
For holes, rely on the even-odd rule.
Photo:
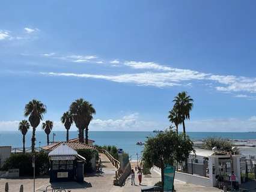
[(93, 115), (96, 113), (93, 105), (83, 98), (74, 101), (70, 105), (70, 114), (73, 116), (76, 127), (79, 130), (79, 142), (84, 143), (84, 130), (86, 140), (85, 143), (88, 144), (88, 125), (93, 119)]

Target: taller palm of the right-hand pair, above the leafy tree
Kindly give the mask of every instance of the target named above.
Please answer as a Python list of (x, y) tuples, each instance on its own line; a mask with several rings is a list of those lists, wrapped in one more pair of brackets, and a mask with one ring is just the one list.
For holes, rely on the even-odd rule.
[(178, 116), (181, 117), (181, 121), (183, 124), (183, 133), (186, 136), (186, 128), (185, 128), (185, 119), (190, 119), (190, 111), (193, 107), (193, 99), (187, 95), (187, 92), (179, 92), (176, 97), (174, 97), (174, 110), (177, 111)]

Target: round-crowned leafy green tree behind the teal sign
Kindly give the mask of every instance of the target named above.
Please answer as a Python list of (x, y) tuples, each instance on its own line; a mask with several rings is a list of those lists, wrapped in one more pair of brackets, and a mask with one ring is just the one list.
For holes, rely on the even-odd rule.
[(189, 137), (167, 130), (157, 134), (155, 137), (148, 137), (145, 142), (142, 161), (144, 166), (151, 168), (154, 165), (161, 168), (162, 186), (164, 185), (164, 174), (166, 164), (174, 165), (174, 162), (181, 162), (189, 157), (193, 150), (193, 143)]

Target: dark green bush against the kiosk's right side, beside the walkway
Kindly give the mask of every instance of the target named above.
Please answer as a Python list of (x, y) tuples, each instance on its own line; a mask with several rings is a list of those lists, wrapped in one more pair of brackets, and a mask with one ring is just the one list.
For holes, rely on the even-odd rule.
[(97, 160), (97, 157), (99, 159), (98, 151), (94, 149), (79, 149), (78, 154), (86, 159), (86, 163), (84, 165), (84, 172), (85, 173), (93, 172), (90, 161), (93, 158), (93, 155), (96, 155), (96, 160)]

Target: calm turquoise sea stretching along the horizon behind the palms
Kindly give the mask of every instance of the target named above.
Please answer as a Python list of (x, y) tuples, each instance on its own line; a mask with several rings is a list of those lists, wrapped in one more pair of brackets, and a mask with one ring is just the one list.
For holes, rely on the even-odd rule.
[[(65, 141), (66, 131), (52, 131), (50, 133), (50, 142), (53, 140)], [(31, 146), (32, 131), (26, 134), (26, 147)], [(94, 140), (97, 145), (115, 145), (119, 149), (127, 152), (132, 160), (141, 157), (144, 146), (136, 145), (137, 142), (144, 143), (147, 137), (154, 136), (152, 131), (89, 131), (89, 139)], [(222, 137), (227, 139), (248, 140), (256, 139), (256, 132), (187, 132), (192, 140), (202, 140), (207, 137)], [(36, 131), (36, 147), (46, 145), (46, 134), (44, 131)], [(78, 131), (70, 131), (69, 139), (78, 137)], [(12, 146), (13, 148), (22, 147), (22, 134), (19, 131), (0, 131), (0, 146)]]

